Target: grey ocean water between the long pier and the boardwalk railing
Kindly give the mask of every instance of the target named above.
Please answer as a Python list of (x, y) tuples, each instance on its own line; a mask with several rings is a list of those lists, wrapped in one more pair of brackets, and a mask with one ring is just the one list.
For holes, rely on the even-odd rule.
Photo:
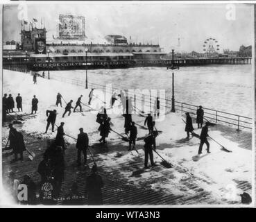
[[(53, 78), (85, 81), (85, 70), (51, 71)], [(88, 70), (88, 82), (112, 83), (119, 89), (165, 89), (171, 99), (172, 71), (164, 67)], [(251, 65), (180, 67), (174, 71), (175, 99), (246, 117), (253, 116), (254, 76)]]

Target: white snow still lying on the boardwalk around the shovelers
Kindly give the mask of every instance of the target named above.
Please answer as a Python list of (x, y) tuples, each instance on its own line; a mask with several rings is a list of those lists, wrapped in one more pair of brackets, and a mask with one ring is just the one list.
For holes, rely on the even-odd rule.
[[(44, 78), (37, 78), (37, 85), (33, 84), (33, 76), (30, 74), (21, 74), (15, 71), (3, 71), (3, 93), (12, 94), (14, 98), (18, 93), (21, 94), (23, 98), (24, 112), (31, 112), (31, 100), (33, 95), (37, 96), (39, 100), (37, 116), (34, 119), (27, 119), (24, 121), (23, 130), (27, 133), (37, 135), (42, 138), (53, 138), (56, 136), (56, 132), (51, 133), (49, 128), (49, 133), (44, 134), (46, 127), (46, 110), (56, 109), (58, 112), (56, 124), (59, 125), (61, 121), (65, 122), (65, 133), (76, 137), (79, 133), (79, 128), (83, 127), (85, 132), (89, 135), (89, 144), (93, 145), (97, 143), (100, 139), (97, 128), (99, 124), (96, 123), (96, 113), (87, 112), (89, 110), (85, 105), (83, 105), (84, 112), (72, 112), (68, 117), (66, 114), (65, 118), (62, 118), (62, 113), (64, 108), (57, 108), (56, 95), (58, 92), (62, 94), (66, 101), (73, 99), (73, 106), (76, 105), (76, 100), (83, 94), (82, 102), (87, 104), (88, 94), (90, 89), (84, 89), (83, 87), (77, 87), (69, 83), (62, 83), (56, 80), (47, 80)], [(95, 94), (97, 93), (97, 89)], [(101, 97), (103, 99), (103, 97)], [(103, 103), (99, 99), (94, 99), (92, 101), (92, 107), (96, 110), (101, 107)], [(108, 104), (107, 104), (108, 105)], [(114, 109), (118, 109), (118, 103), (115, 104)], [(62, 107), (65, 107), (64, 101), (62, 101)], [(15, 110), (17, 110), (15, 108)], [(78, 110), (78, 109), (77, 109)], [(22, 113), (22, 112), (21, 112)], [(121, 114), (109, 114), (112, 118), (113, 130), (119, 133), (123, 133), (123, 117)], [(194, 162), (192, 157), (197, 154), (199, 139), (192, 137), (187, 140), (185, 133), (185, 124), (182, 121), (180, 114), (171, 113), (167, 114), (164, 121), (157, 121), (156, 128), (161, 130), (162, 133), (157, 137), (157, 151), (166, 159), (171, 162), (176, 167), (181, 167), (183, 171), (176, 171), (176, 167), (169, 169), (173, 171), (174, 177), (168, 184), (162, 182), (156, 182), (151, 189), (164, 190), (170, 194), (185, 194), (193, 195), (194, 191), (187, 189), (182, 185), (182, 180), (188, 177), (195, 176), (200, 178), (200, 180), (195, 180), (200, 187), (212, 193), (212, 196), (216, 200), (221, 201), (221, 203), (228, 203), (228, 200), (239, 201), (239, 195), (241, 190), (236, 190), (237, 183), (234, 180), (247, 181), (252, 183), (252, 173), (253, 173), (253, 157), (252, 151), (248, 149), (241, 148), (237, 142), (227, 139), (221, 135), (218, 130), (210, 130), (209, 135), (211, 135), (216, 141), (220, 142), (226, 148), (232, 150), (232, 153), (226, 153), (221, 150), (220, 146), (210, 140), (210, 153), (205, 155), (205, 146), (203, 147), (203, 157), (198, 161)], [(144, 118), (134, 114), (133, 121), (144, 124)], [(195, 133), (200, 134), (200, 130), (196, 128), (194, 124)], [(144, 130), (137, 126), (138, 137), (144, 137), (148, 130)], [(3, 137), (8, 135), (8, 129), (3, 128)], [(110, 133), (108, 141), (111, 146), (112, 142), (120, 141), (119, 135), (115, 133)], [(74, 143), (74, 140), (66, 137), (68, 142)], [(127, 146), (127, 142), (121, 142), (123, 146)], [(142, 146), (144, 145), (143, 139), (137, 141), (137, 147), (139, 148), (139, 153), (144, 159), (144, 151)], [(115, 158), (119, 152), (112, 152), (108, 155), (98, 154), (98, 157), (102, 156), (103, 161), (99, 162), (99, 166), (107, 167), (118, 167), (119, 164), (123, 162), (134, 161), (133, 155), (130, 153), (122, 152), (119, 158)], [(155, 155), (155, 162), (161, 162), (160, 157)], [(143, 161), (142, 166), (143, 166)], [(133, 182), (134, 185), (140, 186), (140, 180), (146, 180), (150, 178), (156, 178), (157, 172), (147, 170), (142, 173), (141, 177), (131, 177), (131, 171), (124, 170), (121, 172), (121, 176)]]

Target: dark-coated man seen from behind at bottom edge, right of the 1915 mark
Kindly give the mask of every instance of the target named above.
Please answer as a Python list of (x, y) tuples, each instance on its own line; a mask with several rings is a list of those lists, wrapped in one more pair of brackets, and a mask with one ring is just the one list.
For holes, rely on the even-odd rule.
[(101, 188), (103, 180), (99, 174), (96, 173), (97, 167), (92, 167), (92, 174), (86, 178), (86, 191), (87, 191), (87, 204), (88, 205), (102, 205), (102, 192)]

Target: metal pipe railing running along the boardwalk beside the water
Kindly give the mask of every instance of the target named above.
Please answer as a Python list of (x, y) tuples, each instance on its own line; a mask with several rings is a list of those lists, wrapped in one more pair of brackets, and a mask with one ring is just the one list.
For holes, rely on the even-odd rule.
[[(65, 78), (62, 76), (58, 76), (58, 78), (53, 77), (56, 80), (60, 80), (65, 83), (71, 83), (77, 86), (85, 87), (85, 80), (79, 80), (79, 79), (71, 79), (71, 78)], [(94, 89), (104, 89), (106, 90), (105, 85), (101, 85), (98, 83), (88, 83), (89, 88)], [(112, 90), (120, 91), (118, 88), (112, 87)], [(112, 93), (112, 92), (110, 92)], [(142, 103), (148, 105), (151, 108), (151, 105), (154, 103), (156, 97), (146, 94), (140, 94), (139, 96), (142, 96)], [(133, 95), (131, 95), (133, 97)], [(165, 99), (160, 98), (160, 101), (164, 101), (164, 103), (160, 103), (160, 106), (164, 106), (166, 108), (167, 112), (171, 112), (171, 99)], [(196, 110), (198, 109), (198, 105), (192, 105), (189, 103), (183, 103), (176, 101), (175, 102), (175, 108), (179, 112), (189, 112), (191, 115), (196, 117)], [(232, 114), (230, 112), (223, 112), (220, 110), (214, 110), (211, 108), (203, 108), (204, 110), (204, 117), (207, 121), (214, 121), (215, 123), (225, 123), (228, 124), (228, 126), (236, 126), (237, 130), (241, 130), (241, 128), (246, 129), (252, 129), (253, 128), (253, 119), (250, 117), (244, 117), (242, 115), (238, 114)]]

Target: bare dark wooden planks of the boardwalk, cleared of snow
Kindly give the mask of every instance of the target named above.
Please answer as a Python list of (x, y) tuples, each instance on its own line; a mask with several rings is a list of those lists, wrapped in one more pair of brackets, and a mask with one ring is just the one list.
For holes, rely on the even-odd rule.
[[(218, 130), (225, 132), (228, 130), (225, 127), (218, 126)], [(23, 176), (28, 173), (32, 176), (34, 182), (40, 182), (40, 176), (37, 173), (37, 166), (42, 160), (42, 155), (47, 146), (47, 139), (40, 139), (34, 137), (31, 134), (26, 134), (22, 131), (22, 124), (15, 125), (17, 130), (21, 131), (24, 134), (24, 139), (26, 140), (26, 147), (33, 151), (36, 155), (33, 161), (28, 160), (27, 154), (24, 155), (23, 162), (16, 162), (10, 164), (12, 156), (6, 156), (6, 153), (3, 153), (3, 177), (6, 176), (7, 172), (17, 171), (17, 177), (22, 181)], [(241, 133), (241, 132), (240, 132)], [(250, 133), (241, 133), (239, 141), (241, 146), (244, 148), (249, 148), (250, 143), (248, 138), (251, 137)], [(246, 136), (246, 138), (245, 138)], [(3, 138), (4, 139), (4, 138)], [(236, 139), (237, 140), (237, 139)], [(250, 140), (251, 141), (251, 140)], [(245, 142), (245, 144), (244, 144)], [(111, 144), (111, 141), (110, 141)], [(65, 180), (62, 182), (61, 196), (65, 196), (69, 192), (73, 182), (77, 182), (78, 191), (80, 194), (85, 194), (85, 178), (89, 176), (90, 170), (86, 167), (76, 167), (76, 148), (74, 144), (71, 144), (67, 151), (65, 152)], [(116, 147), (114, 145), (113, 147)], [(109, 152), (117, 152), (114, 148), (111, 148), (110, 145), (108, 149), (103, 149), (102, 147), (94, 146), (91, 148), (91, 151), (94, 155), (96, 162), (102, 162), (104, 157), (108, 155)], [(118, 151), (117, 153), (127, 153), (128, 151)], [(88, 155), (88, 164), (92, 167), (92, 158)], [(210, 191), (206, 191), (196, 181), (203, 180), (193, 175), (189, 172), (189, 169), (185, 169), (182, 166), (176, 166), (175, 169), (164, 168), (161, 164), (153, 167), (151, 171), (157, 173), (157, 177), (146, 178), (142, 180), (137, 180), (137, 184), (131, 182), (127, 178), (122, 176), (123, 170), (130, 170), (130, 177), (139, 178), (142, 176), (142, 173), (136, 173), (142, 171), (144, 167), (143, 161), (144, 157), (140, 160), (139, 157), (134, 157), (133, 162), (129, 164), (123, 162), (117, 164), (115, 167), (109, 166), (99, 166), (99, 174), (103, 178), (105, 187), (103, 188), (103, 204), (104, 205), (198, 205), (198, 204), (221, 204), (220, 200), (214, 198)], [(114, 161), (114, 160), (113, 160)], [(182, 194), (177, 194), (175, 190), (173, 193), (166, 191), (165, 189), (152, 189), (155, 183), (161, 182), (162, 184), (171, 184), (171, 180), (175, 177), (174, 173), (178, 171), (180, 173), (186, 173), (188, 176), (183, 180), (180, 180), (180, 183), (185, 188), (194, 191), (194, 194), (187, 195), (186, 192)], [(210, 180), (203, 181), (211, 183)], [(241, 188), (244, 191), (250, 192), (252, 187), (247, 181), (234, 181), (237, 183), (237, 188)], [(174, 185), (173, 185), (174, 186)], [(228, 204), (228, 202), (226, 202)], [(232, 203), (232, 202), (230, 202)], [(233, 202), (234, 203), (234, 202)], [(62, 201), (58, 201), (58, 204), (62, 204)], [(87, 204), (87, 198), (85, 197), (85, 205)]]

